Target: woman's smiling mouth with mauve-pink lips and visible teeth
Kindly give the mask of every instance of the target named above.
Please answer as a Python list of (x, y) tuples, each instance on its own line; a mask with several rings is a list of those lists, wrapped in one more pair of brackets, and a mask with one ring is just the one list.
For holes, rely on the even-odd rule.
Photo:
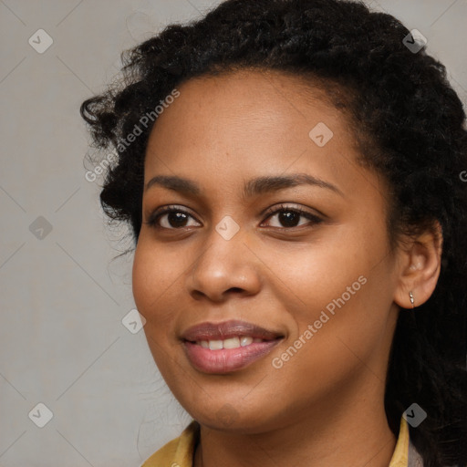
[(284, 335), (244, 321), (202, 323), (182, 334), (185, 354), (203, 373), (224, 374), (265, 357)]

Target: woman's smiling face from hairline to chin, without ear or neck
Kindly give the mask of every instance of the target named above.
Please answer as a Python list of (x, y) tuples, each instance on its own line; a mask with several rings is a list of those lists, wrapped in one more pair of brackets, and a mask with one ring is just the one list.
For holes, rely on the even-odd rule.
[(150, 134), (133, 267), (171, 391), (243, 432), (382, 407), (397, 261), (348, 120), (276, 72), (179, 90)]

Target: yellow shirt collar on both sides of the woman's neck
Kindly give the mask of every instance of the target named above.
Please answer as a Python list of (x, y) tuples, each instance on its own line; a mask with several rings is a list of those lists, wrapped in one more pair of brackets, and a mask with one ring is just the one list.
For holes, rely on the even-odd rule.
[[(200, 425), (193, 420), (178, 438), (169, 441), (159, 451), (154, 452), (141, 467), (192, 467), (193, 453), (199, 436)], [(408, 423), (401, 417), (399, 438), (389, 467), (419, 467), (422, 465), (420, 454), (415, 451), (410, 442)]]

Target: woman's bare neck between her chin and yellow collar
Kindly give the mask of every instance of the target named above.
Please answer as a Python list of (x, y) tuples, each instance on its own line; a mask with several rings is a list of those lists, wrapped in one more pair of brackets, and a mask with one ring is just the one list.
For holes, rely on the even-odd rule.
[(381, 399), (371, 403), (371, 398), (362, 398), (361, 394), (347, 403), (328, 399), (300, 420), (296, 417), (270, 431), (239, 434), (201, 425), (193, 465), (388, 467), (396, 437), (389, 429)]

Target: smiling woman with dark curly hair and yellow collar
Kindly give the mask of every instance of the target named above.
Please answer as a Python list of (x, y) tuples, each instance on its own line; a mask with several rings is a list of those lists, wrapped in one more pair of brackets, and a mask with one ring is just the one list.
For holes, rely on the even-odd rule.
[(144, 466), (466, 464), (467, 134), (444, 67), (338, 0), (228, 0), (124, 64), (81, 114), (118, 152), (101, 202), (193, 419)]

